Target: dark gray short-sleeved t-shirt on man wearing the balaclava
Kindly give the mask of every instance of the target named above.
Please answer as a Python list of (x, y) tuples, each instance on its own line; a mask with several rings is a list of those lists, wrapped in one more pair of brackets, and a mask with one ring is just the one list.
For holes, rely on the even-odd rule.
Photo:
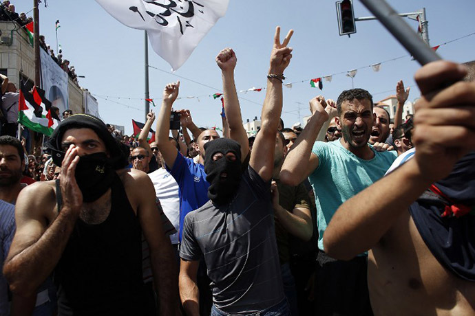
[(225, 313), (258, 312), (284, 299), (270, 184), (249, 166), (229, 204), (209, 201), (184, 218), (180, 257), (204, 256), (213, 302)]

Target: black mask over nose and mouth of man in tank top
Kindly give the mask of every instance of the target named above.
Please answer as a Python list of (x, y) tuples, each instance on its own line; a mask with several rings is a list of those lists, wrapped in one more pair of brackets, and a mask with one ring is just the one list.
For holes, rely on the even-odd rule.
[(76, 166), (75, 178), (83, 201), (96, 201), (107, 192), (114, 181), (114, 172), (105, 153), (82, 156)]

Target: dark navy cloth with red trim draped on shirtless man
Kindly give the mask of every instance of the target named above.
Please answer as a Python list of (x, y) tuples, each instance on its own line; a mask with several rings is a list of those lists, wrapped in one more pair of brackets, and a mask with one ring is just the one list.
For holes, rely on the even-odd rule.
[(419, 234), (434, 257), (459, 278), (475, 281), (475, 216), (447, 215), (447, 210), (474, 210), (475, 153), (454, 166), (450, 175), (434, 183), (409, 211)]

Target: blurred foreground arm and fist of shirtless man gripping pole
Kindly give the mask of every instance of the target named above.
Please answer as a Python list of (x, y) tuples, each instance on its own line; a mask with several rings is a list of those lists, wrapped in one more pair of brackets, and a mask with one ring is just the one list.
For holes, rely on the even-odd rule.
[(348, 260), (371, 249), (424, 190), (475, 150), (475, 83), (457, 82), (443, 89), (465, 74), (459, 65), (445, 61), (417, 71), (422, 97), (414, 115), (416, 155), (339, 207), (324, 235), (329, 256)]

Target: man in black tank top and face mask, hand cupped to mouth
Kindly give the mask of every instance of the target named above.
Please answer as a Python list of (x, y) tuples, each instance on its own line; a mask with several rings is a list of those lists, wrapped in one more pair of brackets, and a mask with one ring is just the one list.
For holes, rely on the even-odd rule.
[(10, 289), (30, 296), (54, 271), (59, 315), (156, 315), (142, 280), (143, 233), (160, 315), (179, 315), (178, 271), (147, 174), (123, 169), (118, 143), (92, 115), (63, 120), (47, 146), (61, 177), (19, 195)]

